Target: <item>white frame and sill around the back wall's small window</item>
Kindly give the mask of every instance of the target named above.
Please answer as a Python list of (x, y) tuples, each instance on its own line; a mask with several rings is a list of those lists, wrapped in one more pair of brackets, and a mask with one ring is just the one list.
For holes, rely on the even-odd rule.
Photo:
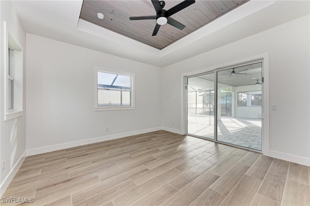
[[(122, 105), (120, 106), (99, 106), (98, 105), (98, 72), (130, 76), (131, 92), (130, 92), (130, 105), (129, 106), (122, 106)], [(93, 87), (94, 87), (94, 100), (93, 100), (94, 111), (136, 109), (136, 106), (135, 106), (135, 74), (95, 67)]]

